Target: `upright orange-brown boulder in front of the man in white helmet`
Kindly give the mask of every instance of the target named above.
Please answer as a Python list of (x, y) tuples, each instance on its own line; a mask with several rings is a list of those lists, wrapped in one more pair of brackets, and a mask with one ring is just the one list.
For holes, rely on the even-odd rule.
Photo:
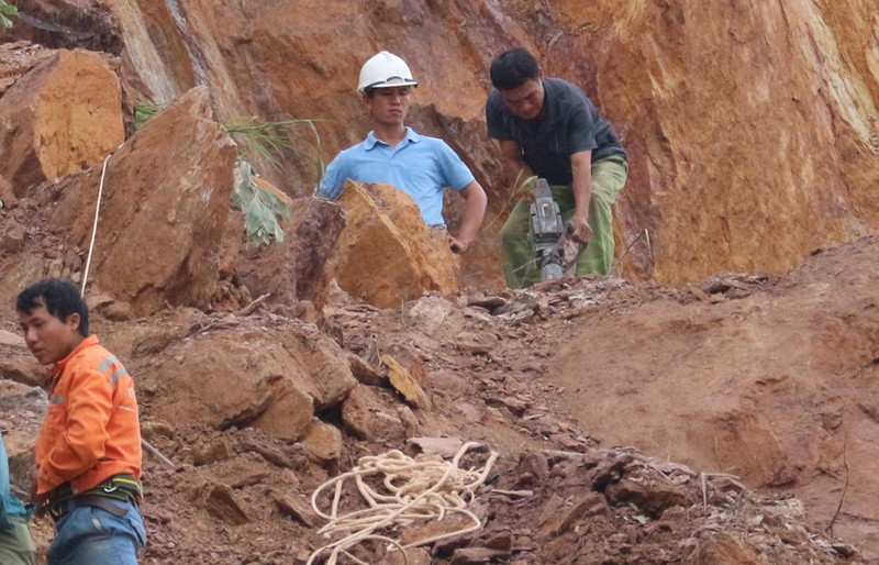
[(426, 290), (458, 291), (460, 266), (446, 232), (427, 228), (409, 195), (386, 184), (348, 181), (340, 206), (346, 225), (331, 265), (349, 295), (397, 308)]

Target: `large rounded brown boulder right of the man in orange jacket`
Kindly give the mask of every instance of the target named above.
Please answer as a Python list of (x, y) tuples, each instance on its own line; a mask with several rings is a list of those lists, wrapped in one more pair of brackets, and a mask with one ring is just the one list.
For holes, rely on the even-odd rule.
[(338, 405), (357, 384), (338, 345), (310, 324), (198, 334), (143, 379), (162, 399), (151, 413), (163, 420), (253, 425), (286, 440), (304, 437), (314, 410)]

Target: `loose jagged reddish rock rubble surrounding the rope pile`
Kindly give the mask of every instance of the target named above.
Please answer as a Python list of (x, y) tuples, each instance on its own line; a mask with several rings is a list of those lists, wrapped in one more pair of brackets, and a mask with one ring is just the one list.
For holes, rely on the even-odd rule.
[[(590, 322), (613, 317), (646, 300), (699, 300), (691, 292), (580, 279), (536, 293), (536, 301), (523, 295), (530, 292), (450, 302), (443, 323), (431, 325), (432, 335), (405, 312), (334, 297), (324, 322), (335, 329), (342, 344), (336, 357), (351, 368), (356, 384), (338, 403), (327, 400), (314, 412), (315, 429), (342, 430), (327, 450), (280, 439), (247, 419), (225, 429), (169, 424), (158, 416), (167, 406), (157, 406), (168, 403), (171, 380), (157, 379), (155, 369), (182, 363), (181, 344), (189, 347), (188, 355), (202, 341), (218, 340), (227, 347), (231, 341), (224, 336), (246, 336), (253, 344), (247, 368), (253, 373), (270, 366), (260, 361), (270, 357), (256, 355), (258, 344), (281, 352), (268, 335), (280, 337), (297, 356), (316, 351), (314, 325), (288, 319), (270, 301), (247, 315), (181, 310), (179, 320), (167, 315), (148, 329), (98, 317), (98, 331), (120, 340), (120, 351), (126, 343), (137, 350), (138, 355), (126, 357), (144, 387), (144, 435), (176, 463), (169, 467), (146, 459), (144, 511), (151, 545), (142, 562), (304, 565), (327, 543), (316, 533), (323, 520), (308, 505), (320, 485), (354, 469), (364, 456), (393, 450), (447, 456), (457, 437), (472, 437), (501, 454), (468, 506), (478, 529), (409, 547), (404, 556), (388, 550), (392, 543), (366, 540), (352, 555), (365, 563), (441, 565), (866, 563), (855, 546), (806, 527), (793, 498), (761, 497), (734, 475), (699, 473), (634, 448), (599, 448), (599, 439), (559, 410), (558, 399), (574, 391), (554, 385), (547, 365), (554, 340), (564, 333), (559, 329), (580, 317)], [(508, 315), (501, 310), (504, 304), (531, 306)], [(209, 331), (187, 336), (191, 328)], [(159, 334), (167, 339), (153, 343)], [(298, 350), (297, 343), (304, 348)], [(210, 350), (210, 343), (203, 345)], [(380, 361), (391, 352), (423, 365), (424, 375), (413, 380), (430, 408), (405, 406), (392, 388), (390, 369)], [(5, 359), (15, 365), (15, 354)], [(277, 384), (270, 372), (266, 375), (267, 385)], [(199, 383), (210, 387), (212, 379)], [(325, 392), (315, 390), (315, 398)], [(358, 496), (353, 487), (343, 488), (340, 508), (356, 508)], [(407, 545), (475, 525), (476, 520), (446, 517), (438, 522), (442, 527), (410, 524), (388, 533)], [(51, 535), (40, 532), (37, 528), (38, 540)], [(324, 562), (329, 553), (314, 556), (313, 563)], [(341, 552), (338, 562), (356, 563)]]

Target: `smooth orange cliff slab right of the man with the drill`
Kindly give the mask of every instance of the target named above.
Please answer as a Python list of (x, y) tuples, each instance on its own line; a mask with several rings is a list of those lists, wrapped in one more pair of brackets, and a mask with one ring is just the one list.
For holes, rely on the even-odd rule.
[(610, 5), (563, 2), (565, 21), (604, 31), (563, 37), (547, 57), (576, 77), (575, 54), (593, 46), (579, 75), (632, 155), (621, 233), (626, 244), (650, 235), (650, 258), (642, 237), (630, 272), (780, 274), (816, 246), (876, 232), (875, 2)]

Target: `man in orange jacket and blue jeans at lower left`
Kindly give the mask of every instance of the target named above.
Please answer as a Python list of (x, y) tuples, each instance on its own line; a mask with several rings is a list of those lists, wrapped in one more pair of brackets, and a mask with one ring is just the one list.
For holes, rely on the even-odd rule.
[(32, 502), (56, 536), (48, 565), (135, 564), (141, 517), (141, 426), (134, 380), (89, 335), (77, 287), (42, 280), (18, 298), (24, 341), (51, 365), (49, 407), (36, 442)]

